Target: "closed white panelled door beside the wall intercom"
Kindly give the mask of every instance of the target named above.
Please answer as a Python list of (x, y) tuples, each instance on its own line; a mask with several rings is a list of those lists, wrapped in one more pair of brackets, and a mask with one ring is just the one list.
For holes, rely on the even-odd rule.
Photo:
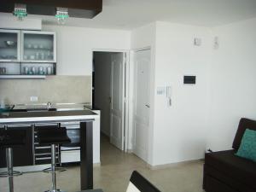
[(150, 61), (151, 50), (140, 50), (135, 53), (134, 84), (134, 121), (133, 152), (141, 159), (148, 161), (148, 129), (150, 110)]

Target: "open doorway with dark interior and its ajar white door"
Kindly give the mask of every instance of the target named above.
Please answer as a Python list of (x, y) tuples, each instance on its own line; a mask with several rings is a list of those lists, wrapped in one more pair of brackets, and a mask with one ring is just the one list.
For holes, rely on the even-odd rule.
[(93, 51), (92, 105), (101, 110), (101, 132), (125, 149), (126, 52)]

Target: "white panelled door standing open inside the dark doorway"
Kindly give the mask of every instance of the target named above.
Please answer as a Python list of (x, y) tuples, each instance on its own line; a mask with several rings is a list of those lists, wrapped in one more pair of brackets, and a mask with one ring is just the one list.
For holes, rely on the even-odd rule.
[(112, 55), (110, 143), (124, 150), (125, 59), (123, 53)]

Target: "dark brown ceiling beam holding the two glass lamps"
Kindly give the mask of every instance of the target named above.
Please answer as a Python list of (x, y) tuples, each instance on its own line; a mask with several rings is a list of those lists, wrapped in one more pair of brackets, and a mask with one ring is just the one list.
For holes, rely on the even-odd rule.
[(67, 8), (71, 17), (93, 18), (102, 12), (102, 0), (0, 0), (0, 12), (12, 13), (15, 3), (26, 4), (30, 15), (55, 15), (55, 8)]

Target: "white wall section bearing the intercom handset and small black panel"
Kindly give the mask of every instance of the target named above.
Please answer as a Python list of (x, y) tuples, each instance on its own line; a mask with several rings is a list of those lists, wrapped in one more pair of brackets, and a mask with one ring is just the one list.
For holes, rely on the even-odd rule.
[[(203, 157), (206, 146), (209, 31), (205, 27), (157, 22), (153, 166)], [(201, 38), (195, 46), (194, 38)], [(183, 84), (195, 75), (196, 84)], [(172, 87), (172, 106), (158, 86)]]

